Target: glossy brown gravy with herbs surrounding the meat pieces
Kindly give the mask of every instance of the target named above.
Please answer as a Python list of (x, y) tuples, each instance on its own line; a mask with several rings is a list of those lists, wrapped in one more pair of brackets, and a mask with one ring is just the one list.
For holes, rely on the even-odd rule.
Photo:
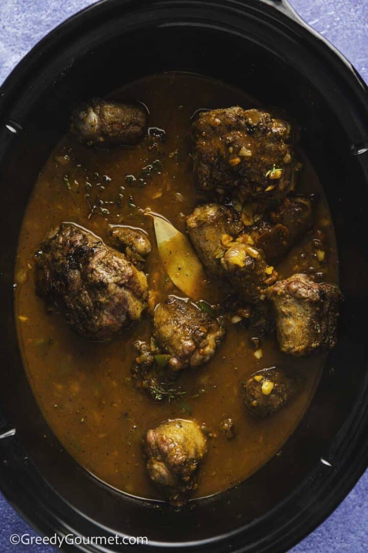
[[(190, 117), (199, 108), (257, 105), (242, 91), (188, 74), (147, 77), (111, 96), (145, 103), (150, 111), (149, 136), (135, 148), (108, 151), (83, 148), (66, 135), (51, 152), (30, 197), (19, 237), (15, 310), (24, 366), (42, 413), (63, 446), (95, 476), (122, 492), (160, 497), (145, 471), (142, 437), (147, 429), (173, 418), (205, 422), (216, 437), (208, 441), (209, 451), (199, 472), (196, 495), (204, 497), (237, 484), (280, 452), (310, 403), (324, 356), (286, 356), (274, 338), (268, 337), (263, 357), (257, 360), (249, 331), (230, 324), (215, 357), (180, 376), (184, 398), (160, 404), (130, 382), (135, 358), (132, 343), (150, 336), (149, 316), (112, 343), (99, 344), (82, 340), (61, 315), (46, 314), (44, 302), (34, 291), (33, 254), (47, 231), (62, 221), (82, 225), (106, 243), (109, 224), (145, 229), (153, 246), (146, 270), (157, 301), (168, 294), (183, 296), (168, 283), (157, 254), (152, 218), (142, 210), (149, 207), (161, 213), (183, 232), (184, 217), (197, 202), (186, 138)], [(161, 138), (156, 140), (155, 134)], [(326, 280), (337, 281), (333, 228), (322, 187), (305, 155), (300, 153), (300, 157), (303, 170), (298, 191), (321, 195), (316, 224), (324, 227), (328, 237), (323, 270)], [(281, 278), (296, 272), (303, 244), (297, 244), (279, 265)], [(203, 299), (214, 303), (218, 283), (206, 286), (203, 294)], [(304, 380), (303, 389), (278, 414), (257, 420), (244, 409), (239, 385), (250, 373), (271, 366), (296, 367)], [(236, 423), (237, 436), (232, 441), (218, 427), (225, 417)]]

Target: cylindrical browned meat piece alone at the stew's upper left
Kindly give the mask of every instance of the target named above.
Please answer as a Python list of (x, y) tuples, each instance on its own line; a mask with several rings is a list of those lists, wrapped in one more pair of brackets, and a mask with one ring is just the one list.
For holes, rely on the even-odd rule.
[(146, 110), (140, 105), (92, 98), (74, 109), (71, 132), (86, 146), (133, 145), (145, 133)]

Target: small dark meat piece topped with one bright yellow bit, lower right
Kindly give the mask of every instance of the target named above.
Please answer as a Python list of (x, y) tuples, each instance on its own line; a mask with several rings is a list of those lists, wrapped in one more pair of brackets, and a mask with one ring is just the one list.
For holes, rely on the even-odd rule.
[(244, 403), (248, 411), (262, 419), (277, 413), (296, 391), (295, 379), (274, 367), (253, 373), (243, 384)]

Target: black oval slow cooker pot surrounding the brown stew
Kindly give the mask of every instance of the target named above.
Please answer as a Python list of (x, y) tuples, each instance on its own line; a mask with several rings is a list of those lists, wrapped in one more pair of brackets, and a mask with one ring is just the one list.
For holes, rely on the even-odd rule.
[[(46, 156), (66, 130), (71, 106), (167, 70), (243, 88), (301, 123), (302, 148), (332, 210), (345, 296), (338, 345), (282, 455), (236, 488), (180, 511), (116, 493), (63, 450), (26, 380), (13, 314), (24, 208)], [(285, 551), (337, 507), (367, 467), (364, 83), (285, 2), (105, 0), (68, 19), (20, 62), (0, 89), (0, 116), (2, 492), (47, 535), (148, 536), (152, 549)]]

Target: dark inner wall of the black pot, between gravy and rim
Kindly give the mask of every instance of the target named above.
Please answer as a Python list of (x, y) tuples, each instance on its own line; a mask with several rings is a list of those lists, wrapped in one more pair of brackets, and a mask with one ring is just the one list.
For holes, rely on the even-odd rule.
[[(367, 255), (361, 206), (367, 205), (367, 187), (358, 159), (350, 153), (351, 144), (338, 114), (314, 88), (308, 71), (292, 69), (286, 55), (279, 56), (274, 45), (267, 45), (266, 35), (265, 45), (260, 46), (244, 36), (196, 25), (157, 29), (147, 24), (145, 29), (121, 34), (116, 23), (110, 31), (91, 31), (73, 51), (55, 51), (42, 78), (35, 77), (33, 88), (19, 91), (11, 112), (2, 113), (3, 124), (11, 120), (22, 129), (14, 126), (17, 134), (4, 129), (0, 137), (0, 225), (5, 238), (0, 289), (0, 398), (3, 428), (17, 429), (15, 439), (0, 440), (0, 448), (5, 460), (16, 457), (19, 466), (32, 463), (63, 499), (101, 525), (155, 540), (207, 539), (264, 515), (288, 497), (318, 463), (321, 473), (329, 471), (320, 462), (321, 457), (332, 465), (339, 462), (331, 450), (332, 440), (366, 385), (362, 317), (367, 301)], [(24, 208), (47, 154), (67, 129), (74, 103), (91, 95), (105, 95), (140, 76), (167, 70), (197, 72), (233, 84), (265, 106), (284, 108), (301, 124), (302, 147), (321, 178), (332, 210), (345, 295), (338, 346), (330, 354), (311, 408), (282, 455), (237, 488), (190, 503), (182, 512), (115, 493), (77, 466), (58, 444), (25, 378), (12, 300), (14, 252)], [(13, 468), (2, 468), (8, 471), (4, 474), (9, 479), (16, 474)], [(31, 483), (24, 481), (23, 485), (26, 489)], [(310, 490), (312, 494), (312, 484)], [(55, 500), (54, 510), (58, 509), (62, 511), (62, 503)]]

